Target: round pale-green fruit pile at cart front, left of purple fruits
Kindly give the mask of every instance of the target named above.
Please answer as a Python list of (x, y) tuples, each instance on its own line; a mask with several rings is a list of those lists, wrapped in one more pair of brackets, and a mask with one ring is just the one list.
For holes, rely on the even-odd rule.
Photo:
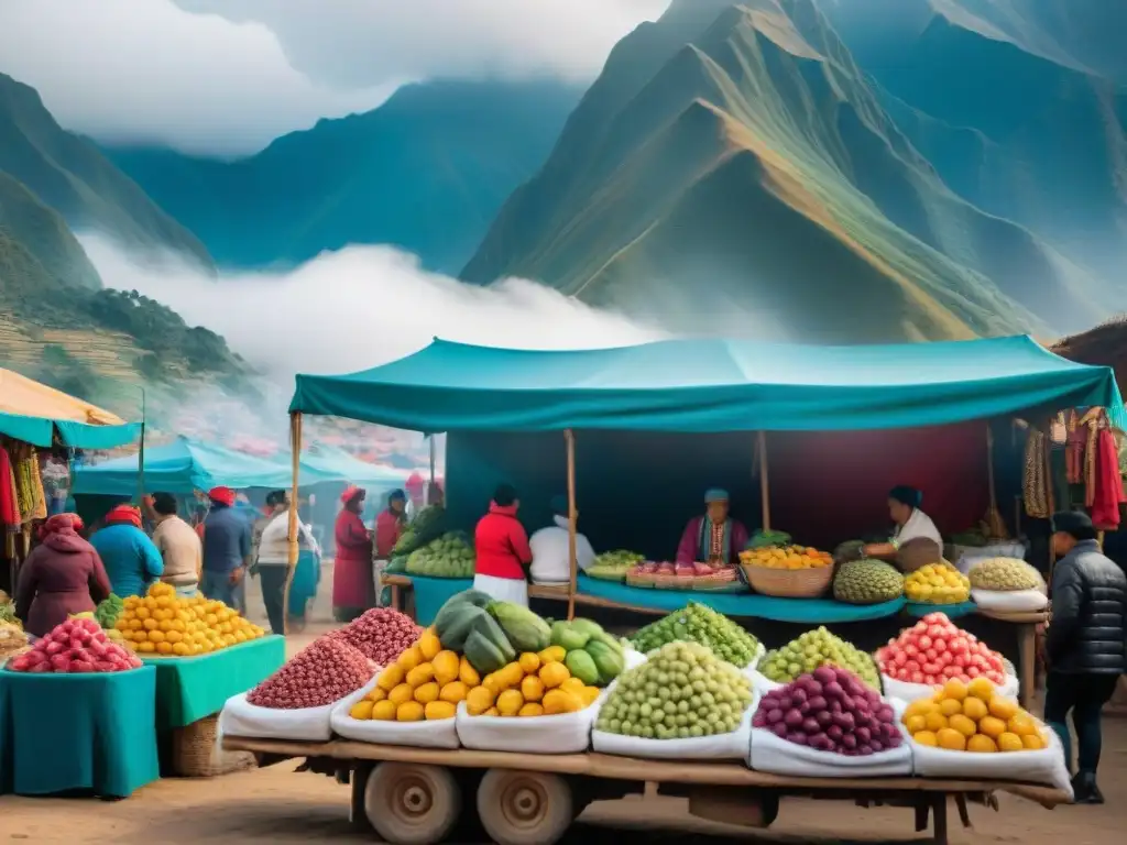
[(752, 684), (698, 642), (671, 642), (619, 676), (597, 730), (645, 739), (731, 733), (752, 703)]

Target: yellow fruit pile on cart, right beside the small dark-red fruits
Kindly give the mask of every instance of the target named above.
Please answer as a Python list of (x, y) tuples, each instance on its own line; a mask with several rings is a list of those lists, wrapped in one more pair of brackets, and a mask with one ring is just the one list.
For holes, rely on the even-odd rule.
[(375, 687), (348, 711), (353, 719), (381, 722), (419, 722), (453, 719), (479, 682), (470, 661), (442, 648), (427, 629), (419, 641), (380, 673)]

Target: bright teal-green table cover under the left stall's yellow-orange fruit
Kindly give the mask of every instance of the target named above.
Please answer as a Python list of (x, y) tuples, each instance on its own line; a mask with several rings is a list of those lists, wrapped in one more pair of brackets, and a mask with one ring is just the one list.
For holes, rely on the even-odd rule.
[(157, 728), (183, 728), (223, 709), (285, 662), (285, 638), (264, 637), (195, 657), (141, 659), (157, 670)]

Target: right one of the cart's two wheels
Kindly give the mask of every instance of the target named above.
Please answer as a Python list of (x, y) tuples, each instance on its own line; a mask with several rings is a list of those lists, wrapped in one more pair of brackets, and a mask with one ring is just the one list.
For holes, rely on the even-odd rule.
[(478, 815), (497, 845), (552, 845), (575, 818), (571, 786), (544, 772), (490, 768), (478, 786)]

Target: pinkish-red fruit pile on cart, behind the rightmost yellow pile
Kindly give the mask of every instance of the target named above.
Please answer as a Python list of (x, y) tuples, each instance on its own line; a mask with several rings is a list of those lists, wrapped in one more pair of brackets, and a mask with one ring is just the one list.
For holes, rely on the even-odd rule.
[(1005, 676), (1002, 656), (942, 613), (929, 613), (889, 640), (877, 650), (877, 664), (890, 678), (931, 686), (951, 678), (968, 683), (977, 677), (1002, 684)]

